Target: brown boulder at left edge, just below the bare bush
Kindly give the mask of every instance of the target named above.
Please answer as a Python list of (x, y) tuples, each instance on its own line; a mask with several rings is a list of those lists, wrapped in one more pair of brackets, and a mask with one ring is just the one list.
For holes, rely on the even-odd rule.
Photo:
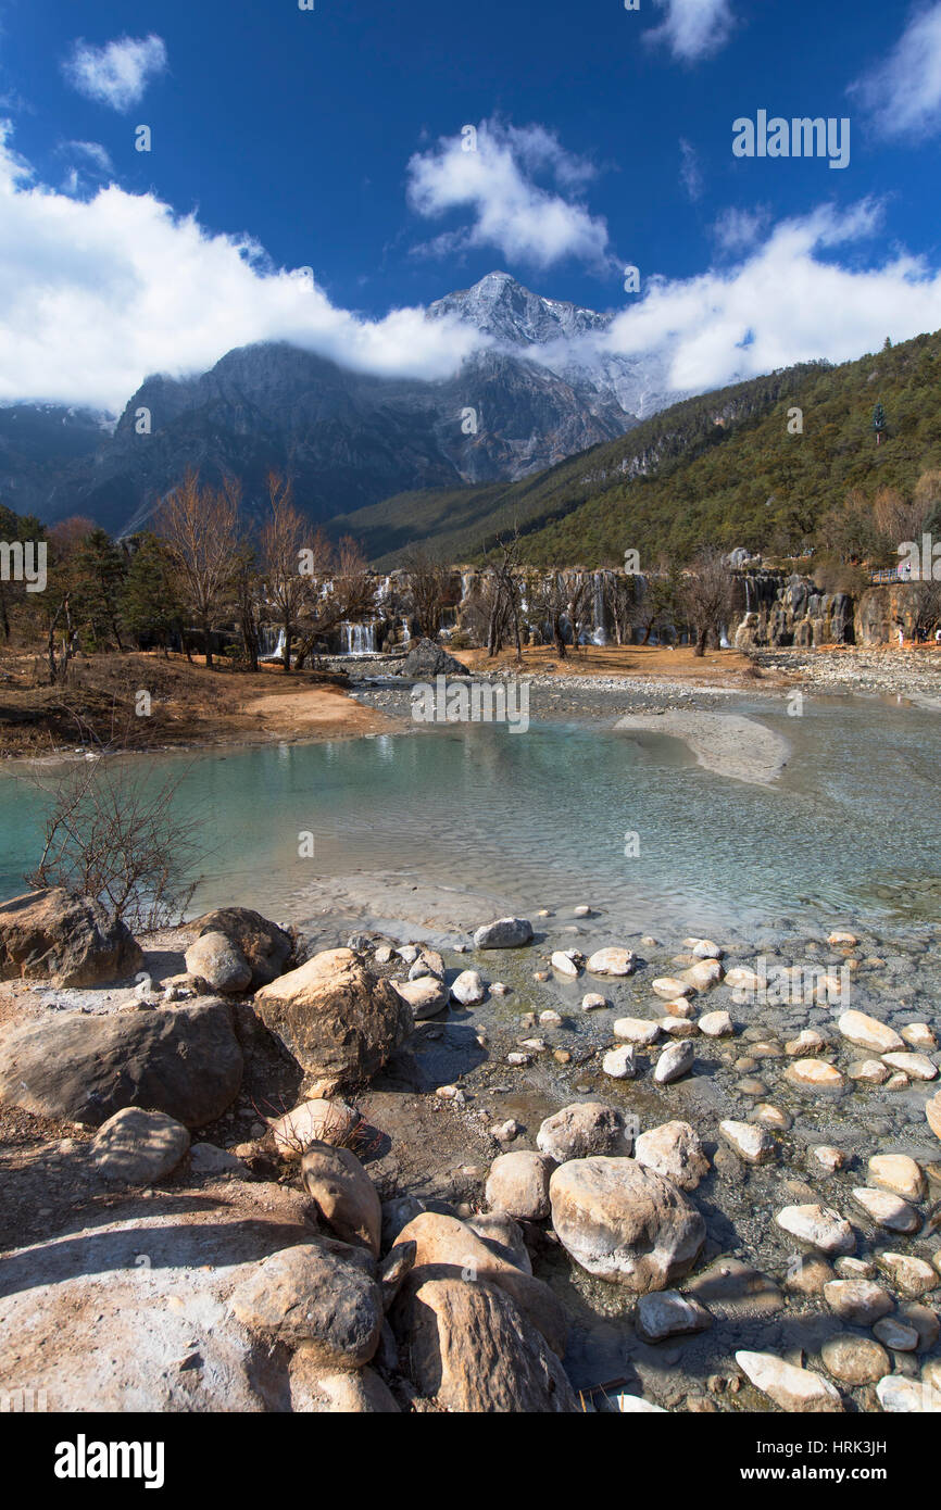
[(94, 897), (60, 886), (27, 891), (0, 906), (0, 980), (98, 986), (133, 975), (143, 953), (125, 923)]

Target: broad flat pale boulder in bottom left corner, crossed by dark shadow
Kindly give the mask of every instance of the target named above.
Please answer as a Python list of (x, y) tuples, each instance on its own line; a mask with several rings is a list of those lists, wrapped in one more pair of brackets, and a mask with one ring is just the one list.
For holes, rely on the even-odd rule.
[(314, 1238), (305, 1206), (275, 1184), (228, 1181), (183, 1203), (154, 1187), (5, 1253), (17, 1344), (0, 1350), (0, 1394), (44, 1391), (66, 1415), (287, 1410), (282, 1353), (228, 1299), (260, 1259)]

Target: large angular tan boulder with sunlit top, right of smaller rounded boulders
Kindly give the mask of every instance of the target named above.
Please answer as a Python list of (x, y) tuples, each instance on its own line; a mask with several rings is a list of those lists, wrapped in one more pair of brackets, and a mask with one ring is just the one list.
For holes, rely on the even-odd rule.
[(412, 1031), (412, 1013), (390, 980), (347, 948), (314, 954), (255, 994), (255, 1012), (301, 1063), (311, 1096), (370, 1080)]

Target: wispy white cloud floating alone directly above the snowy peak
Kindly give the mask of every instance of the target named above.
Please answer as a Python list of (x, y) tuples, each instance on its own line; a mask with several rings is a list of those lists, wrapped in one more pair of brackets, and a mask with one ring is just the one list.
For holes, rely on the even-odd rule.
[[(409, 160), (408, 199), (418, 214), (435, 219), (470, 210), (473, 216), (471, 225), (446, 231), (421, 251), (453, 254), (488, 246), (508, 261), (536, 269), (569, 257), (594, 269), (606, 267), (607, 223), (574, 198), (594, 177), (591, 163), (566, 153), (541, 125), (483, 121), (474, 130), (476, 139), (443, 137)], [(538, 184), (538, 172), (551, 177), (569, 198)]]

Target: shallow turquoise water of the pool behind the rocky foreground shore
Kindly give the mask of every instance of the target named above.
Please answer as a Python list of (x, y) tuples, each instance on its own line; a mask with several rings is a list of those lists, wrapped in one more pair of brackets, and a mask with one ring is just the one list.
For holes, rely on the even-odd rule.
[[(730, 711), (733, 705), (730, 701)], [(304, 918), (311, 877), (412, 873), (536, 909), (589, 900), (630, 929), (840, 915), (936, 918), (936, 716), (876, 699), (736, 702), (793, 743), (773, 788), (606, 725), (452, 726), (329, 744), (172, 755), (208, 856), (199, 906)], [(0, 779), (0, 892), (24, 889), (39, 796)], [(299, 858), (299, 834), (314, 858)], [(625, 856), (625, 834), (639, 855)]]

